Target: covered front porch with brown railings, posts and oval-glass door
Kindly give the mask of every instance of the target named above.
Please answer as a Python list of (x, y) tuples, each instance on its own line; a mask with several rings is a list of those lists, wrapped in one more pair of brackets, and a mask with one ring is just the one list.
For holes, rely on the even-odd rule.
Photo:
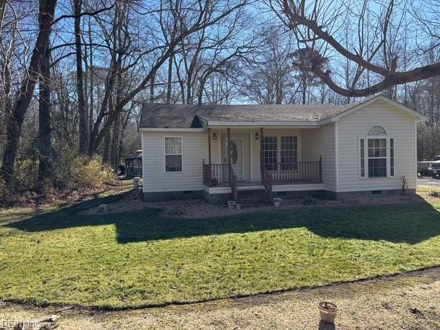
[[(298, 129), (271, 129), (266, 138), (263, 127), (258, 131), (234, 130), (234, 134), (229, 127), (225, 132), (208, 128), (207, 133), (208, 162), (203, 159), (203, 186), (209, 195), (230, 193), (237, 201), (240, 191), (265, 190), (272, 202), (278, 192), (322, 190), (321, 156), (309, 160), (314, 157), (309, 151), (311, 156), (303, 161)], [(215, 148), (212, 140), (217, 139)], [(212, 162), (214, 157), (220, 162)]]

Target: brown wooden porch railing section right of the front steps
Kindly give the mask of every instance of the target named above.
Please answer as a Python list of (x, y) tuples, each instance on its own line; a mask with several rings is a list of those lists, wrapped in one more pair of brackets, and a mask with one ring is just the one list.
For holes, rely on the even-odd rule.
[(264, 164), (274, 182), (322, 182), (322, 162)]

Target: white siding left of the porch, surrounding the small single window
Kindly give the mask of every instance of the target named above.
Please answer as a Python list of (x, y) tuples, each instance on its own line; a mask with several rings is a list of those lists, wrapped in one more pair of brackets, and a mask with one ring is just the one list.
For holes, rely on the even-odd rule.
[(165, 170), (165, 137), (168, 132), (142, 132), (142, 173), (144, 192), (203, 190), (202, 161), (208, 162), (206, 132), (179, 132), (181, 136), (182, 171)]

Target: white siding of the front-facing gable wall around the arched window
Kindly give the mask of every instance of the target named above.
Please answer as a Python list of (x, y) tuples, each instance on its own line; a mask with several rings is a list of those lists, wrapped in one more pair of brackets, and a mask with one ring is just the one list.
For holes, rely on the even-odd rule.
[[(388, 177), (368, 177), (368, 163), (365, 164), (365, 177), (360, 177), (360, 138), (365, 138), (365, 148), (368, 148), (366, 133), (374, 125), (384, 127), (388, 144), (390, 138), (393, 139), (394, 177), (390, 175), (391, 173)], [(399, 189), (400, 177), (403, 175), (408, 179), (408, 188), (415, 188), (414, 125), (415, 118), (412, 115), (382, 101), (374, 102), (369, 107), (341, 118), (338, 122), (338, 191)], [(387, 157), (388, 162), (391, 162), (389, 153)]]

